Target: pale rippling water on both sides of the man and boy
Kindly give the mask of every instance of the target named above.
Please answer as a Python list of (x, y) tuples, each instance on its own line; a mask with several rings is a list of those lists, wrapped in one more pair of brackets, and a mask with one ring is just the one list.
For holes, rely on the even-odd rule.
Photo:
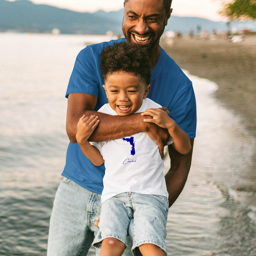
[[(46, 255), (49, 218), (68, 137), (64, 97), (77, 53), (106, 36), (0, 33), (0, 255)], [(256, 141), (188, 74), (198, 128), (185, 188), (170, 208), (170, 256), (255, 256), (256, 195), (236, 189)], [(169, 159), (165, 160), (166, 171)], [(91, 249), (88, 255), (94, 255)]]

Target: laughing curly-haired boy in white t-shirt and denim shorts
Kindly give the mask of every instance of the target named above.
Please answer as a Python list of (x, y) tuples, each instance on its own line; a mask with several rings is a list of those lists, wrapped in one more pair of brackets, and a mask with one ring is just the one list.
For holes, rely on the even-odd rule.
[[(150, 62), (146, 49), (126, 42), (103, 49), (101, 73), (109, 103), (98, 111), (127, 116), (135, 112), (149, 115), (153, 122), (168, 130), (169, 145), (180, 154), (191, 150), (189, 137), (161, 106), (146, 98), (150, 89)], [(101, 195), (99, 232), (93, 245), (101, 255), (121, 256), (126, 247), (129, 224), (133, 219), (132, 249), (143, 256), (165, 256), (168, 192), (163, 174), (164, 163), (157, 143), (146, 133), (105, 142), (90, 142), (99, 124), (98, 116), (85, 116), (77, 124), (76, 141), (90, 161), (105, 163)], [(113, 221), (114, 220), (114, 221)], [(154, 221), (152, 221), (154, 220)]]

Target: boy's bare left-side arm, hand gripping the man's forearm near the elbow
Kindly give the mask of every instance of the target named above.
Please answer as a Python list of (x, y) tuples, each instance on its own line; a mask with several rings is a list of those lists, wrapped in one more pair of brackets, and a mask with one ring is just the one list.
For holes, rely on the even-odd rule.
[(76, 141), (87, 158), (96, 166), (104, 163), (97, 147), (91, 145), (88, 138), (98, 126), (98, 116), (83, 115), (77, 123)]

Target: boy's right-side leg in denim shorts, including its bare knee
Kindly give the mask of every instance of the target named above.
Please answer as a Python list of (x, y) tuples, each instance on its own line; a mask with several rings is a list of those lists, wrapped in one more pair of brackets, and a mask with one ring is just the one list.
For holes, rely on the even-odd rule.
[(131, 200), (134, 207), (133, 250), (140, 251), (143, 256), (165, 256), (167, 197), (134, 193)]

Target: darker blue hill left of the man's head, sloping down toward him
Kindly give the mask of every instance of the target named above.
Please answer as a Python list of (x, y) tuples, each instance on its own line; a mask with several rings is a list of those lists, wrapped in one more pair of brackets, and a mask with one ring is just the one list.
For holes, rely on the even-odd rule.
[(73, 12), (28, 0), (0, 0), (0, 30), (46, 32), (58, 28), (61, 33), (105, 34), (110, 28), (121, 33), (120, 22), (97, 13)]

